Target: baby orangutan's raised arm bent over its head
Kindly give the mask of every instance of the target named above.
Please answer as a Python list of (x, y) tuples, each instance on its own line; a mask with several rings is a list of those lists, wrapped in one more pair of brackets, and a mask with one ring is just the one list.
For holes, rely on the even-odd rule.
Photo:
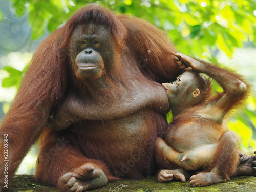
[(247, 95), (247, 86), (242, 82), (244, 80), (240, 75), (225, 68), (193, 59), (182, 53), (177, 53), (176, 56), (181, 58), (185, 66), (191, 67), (193, 71), (205, 73), (216, 80), (223, 88), (223, 92), (216, 97), (209, 97), (207, 107), (200, 111), (207, 117), (210, 115), (213, 120), (221, 123), (226, 113)]

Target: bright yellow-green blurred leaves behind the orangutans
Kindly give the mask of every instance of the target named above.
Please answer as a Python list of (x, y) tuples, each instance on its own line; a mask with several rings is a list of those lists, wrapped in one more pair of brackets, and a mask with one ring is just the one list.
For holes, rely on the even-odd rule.
[[(170, 35), (182, 53), (217, 62), (219, 50), (232, 56), (234, 49), (256, 46), (256, 2), (218, 0), (10, 0), (16, 14), (29, 12), (33, 40), (46, 30), (52, 32), (61, 27), (80, 7), (87, 3), (101, 4), (118, 14), (142, 18)], [(0, 13), (1, 18), (1, 13)], [(24, 71), (11, 67), (3, 70), (9, 76), (2, 87), (18, 87)], [(241, 147), (256, 148), (256, 98), (250, 97), (247, 106), (228, 122), (230, 129), (242, 138)], [(170, 120), (171, 114), (168, 119)]]

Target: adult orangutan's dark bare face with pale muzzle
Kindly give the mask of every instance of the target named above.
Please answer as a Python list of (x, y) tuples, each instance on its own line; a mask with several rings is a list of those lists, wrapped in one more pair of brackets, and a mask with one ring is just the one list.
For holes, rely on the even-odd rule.
[[(112, 35), (104, 25), (79, 25), (71, 41), (71, 62), (76, 76), (99, 78), (114, 56)], [(104, 65), (105, 63), (105, 65)]]

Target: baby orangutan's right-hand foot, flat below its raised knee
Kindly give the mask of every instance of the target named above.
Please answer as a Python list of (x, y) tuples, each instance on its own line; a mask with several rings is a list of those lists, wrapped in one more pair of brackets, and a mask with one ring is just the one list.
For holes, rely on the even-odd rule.
[(218, 174), (212, 172), (200, 172), (197, 175), (193, 175), (190, 177), (189, 184), (193, 187), (202, 187), (214, 183), (222, 183), (225, 181), (226, 179)]

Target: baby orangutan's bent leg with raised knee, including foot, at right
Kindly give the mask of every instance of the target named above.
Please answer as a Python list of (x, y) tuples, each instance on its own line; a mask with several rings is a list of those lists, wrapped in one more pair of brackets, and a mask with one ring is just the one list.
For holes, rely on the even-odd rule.
[(190, 185), (201, 187), (229, 180), (229, 177), (236, 173), (239, 163), (237, 139), (235, 133), (226, 132), (216, 143), (217, 152), (209, 167), (212, 167), (211, 171), (191, 176)]

